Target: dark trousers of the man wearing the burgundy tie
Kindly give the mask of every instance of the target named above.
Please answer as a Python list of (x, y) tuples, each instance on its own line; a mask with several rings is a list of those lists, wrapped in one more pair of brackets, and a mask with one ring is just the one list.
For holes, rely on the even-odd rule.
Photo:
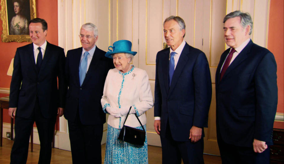
[(222, 164), (269, 164), (270, 146), (262, 153), (254, 152), (251, 147), (241, 147), (225, 143), (218, 137)]

